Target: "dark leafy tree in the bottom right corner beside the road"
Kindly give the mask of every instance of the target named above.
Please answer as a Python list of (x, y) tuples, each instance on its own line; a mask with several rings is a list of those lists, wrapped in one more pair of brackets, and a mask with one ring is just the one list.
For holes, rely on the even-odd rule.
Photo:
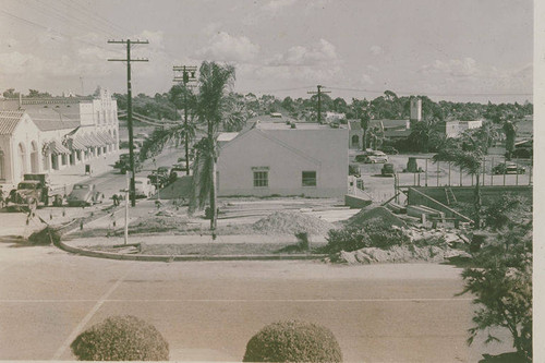
[(473, 256), (476, 267), (462, 273), (464, 289), (480, 307), (469, 329), (472, 343), (480, 330), (488, 331), (486, 342), (499, 341), (491, 328), (507, 328), (513, 348), (524, 361), (532, 361), (532, 233), (531, 225), (514, 228), (495, 238)]

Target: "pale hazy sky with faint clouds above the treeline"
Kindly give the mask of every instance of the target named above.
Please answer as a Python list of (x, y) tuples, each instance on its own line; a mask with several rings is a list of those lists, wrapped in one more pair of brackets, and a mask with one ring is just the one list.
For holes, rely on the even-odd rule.
[(173, 65), (233, 64), (233, 90), (532, 101), (531, 0), (0, 0), (0, 92), (172, 86)]

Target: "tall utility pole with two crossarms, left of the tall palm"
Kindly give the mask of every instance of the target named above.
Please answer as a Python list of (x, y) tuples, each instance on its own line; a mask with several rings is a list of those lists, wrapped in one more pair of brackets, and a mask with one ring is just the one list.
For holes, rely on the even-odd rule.
[(131, 45), (149, 44), (147, 40), (108, 40), (108, 44), (125, 44), (126, 59), (108, 59), (109, 62), (126, 62), (126, 126), (129, 129), (129, 164), (131, 169), (130, 192), (131, 206), (136, 205), (136, 194), (134, 192), (134, 145), (133, 145), (133, 100), (131, 86), (131, 62), (147, 62), (147, 59), (135, 58), (131, 59)]

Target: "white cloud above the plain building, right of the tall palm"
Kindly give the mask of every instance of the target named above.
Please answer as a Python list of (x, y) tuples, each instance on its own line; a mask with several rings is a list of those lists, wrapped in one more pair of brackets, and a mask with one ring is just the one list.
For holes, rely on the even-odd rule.
[(294, 46), (282, 55), (276, 55), (270, 65), (332, 65), (339, 63), (340, 58), (335, 46), (325, 39), (319, 39), (316, 45)]

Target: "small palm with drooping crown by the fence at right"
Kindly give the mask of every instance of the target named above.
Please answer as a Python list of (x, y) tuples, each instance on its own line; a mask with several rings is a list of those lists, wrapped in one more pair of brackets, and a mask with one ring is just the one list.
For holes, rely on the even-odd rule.
[(475, 228), (481, 227), (481, 170), (483, 167), (484, 156), (486, 154), (486, 145), (472, 135), (463, 133), (462, 136), (455, 141), (445, 143), (443, 148), (434, 156), (434, 161), (450, 161), (460, 170), (475, 178), (475, 191), (473, 193), (473, 220)]

